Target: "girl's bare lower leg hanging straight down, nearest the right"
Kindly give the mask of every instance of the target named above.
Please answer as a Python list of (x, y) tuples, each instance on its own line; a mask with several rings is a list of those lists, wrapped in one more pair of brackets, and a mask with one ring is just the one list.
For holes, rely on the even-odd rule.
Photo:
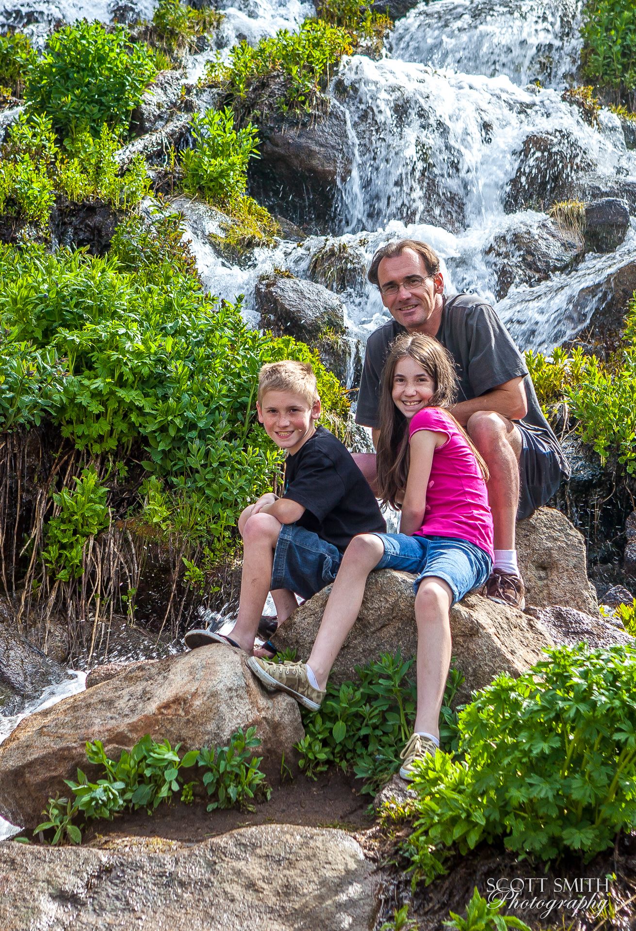
[(451, 666), (451, 587), (425, 578), (417, 589), (417, 714), (414, 731), (440, 737), (440, 708)]

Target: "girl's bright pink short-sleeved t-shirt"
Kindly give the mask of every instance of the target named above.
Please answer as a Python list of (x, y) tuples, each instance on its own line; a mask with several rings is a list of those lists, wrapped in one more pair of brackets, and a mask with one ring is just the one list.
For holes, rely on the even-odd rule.
[(413, 416), (409, 441), (418, 430), (445, 433), (448, 439), (433, 453), (424, 521), (413, 536), (459, 537), (480, 546), (494, 559), (493, 515), (486, 483), (464, 434), (439, 408), (425, 408)]

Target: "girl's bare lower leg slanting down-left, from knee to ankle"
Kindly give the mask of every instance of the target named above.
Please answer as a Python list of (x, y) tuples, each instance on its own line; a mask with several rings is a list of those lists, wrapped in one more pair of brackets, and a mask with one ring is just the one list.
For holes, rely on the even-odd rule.
[(385, 554), (382, 540), (372, 533), (355, 536), (346, 547), (332, 593), (318, 629), (307, 665), (312, 669), (318, 687), (324, 691), (336, 656), (356, 623), (364, 587), (369, 573)]

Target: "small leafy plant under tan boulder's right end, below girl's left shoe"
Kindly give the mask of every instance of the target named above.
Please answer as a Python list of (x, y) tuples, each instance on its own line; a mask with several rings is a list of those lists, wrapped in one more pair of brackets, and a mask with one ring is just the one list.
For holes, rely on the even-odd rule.
[(253, 799), (269, 800), (272, 790), (259, 769), (263, 757), (252, 755), (252, 751), (260, 746), (256, 728), (249, 727), (245, 734), (241, 729), (233, 734), (227, 747), (201, 749), (197, 763), (205, 770), (203, 785), (212, 800), (208, 805), (209, 812), (215, 808), (235, 806), (253, 811)]

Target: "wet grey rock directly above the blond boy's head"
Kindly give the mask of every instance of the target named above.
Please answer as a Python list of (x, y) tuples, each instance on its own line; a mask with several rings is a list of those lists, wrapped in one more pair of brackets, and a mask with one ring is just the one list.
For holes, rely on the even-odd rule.
[(261, 326), (275, 336), (314, 344), (324, 331), (345, 332), (345, 307), (332, 291), (289, 275), (261, 277), (254, 292)]

